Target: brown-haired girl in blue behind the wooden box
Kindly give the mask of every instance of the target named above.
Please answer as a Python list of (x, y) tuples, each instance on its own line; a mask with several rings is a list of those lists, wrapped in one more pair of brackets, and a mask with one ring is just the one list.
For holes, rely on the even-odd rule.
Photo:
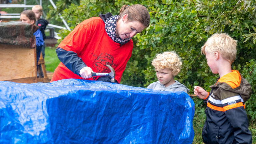
[[(35, 24), (36, 17), (32, 10), (25, 10), (20, 13), (20, 21), (28, 23), (28, 24)], [(44, 45), (43, 35), (41, 31), (38, 29), (34, 32), (34, 36), (36, 38), (36, 61), (38, 62), (41, 48)]]

